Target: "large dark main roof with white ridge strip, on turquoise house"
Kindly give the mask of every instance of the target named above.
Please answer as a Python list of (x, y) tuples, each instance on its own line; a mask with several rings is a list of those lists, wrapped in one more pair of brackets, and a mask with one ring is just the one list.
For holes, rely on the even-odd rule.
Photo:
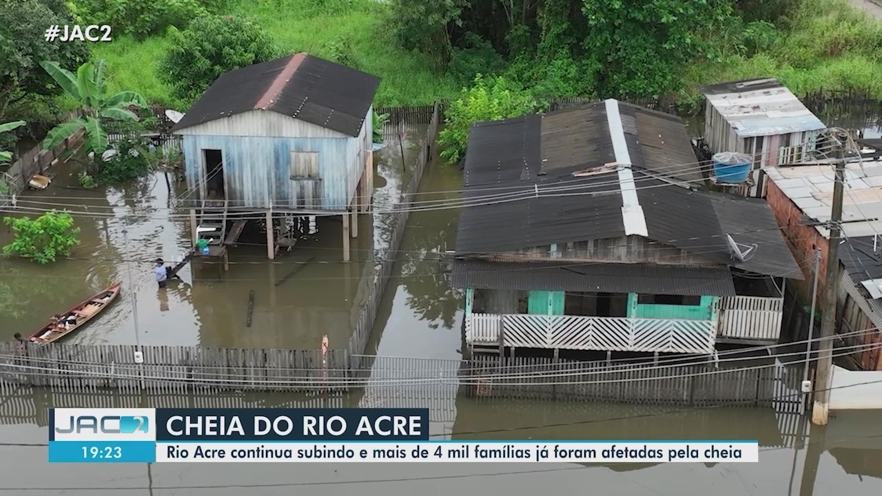
[[(802, 279), (766, 202), (692, 191), (685, 186), (700, 177), (695, 162), (678, 117), (614, 100), (475, 124), (456, 252), (639, 235), (714, 263)], [(486, 200), (499, 192), (505, 198)], [(733, 259), (727, 235), (758, 248), (747, 261)]]

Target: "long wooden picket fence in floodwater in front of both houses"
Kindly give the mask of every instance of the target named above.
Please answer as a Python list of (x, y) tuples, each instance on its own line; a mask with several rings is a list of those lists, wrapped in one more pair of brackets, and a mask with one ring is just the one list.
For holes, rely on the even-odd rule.
[[(138, 353), (140, 355), (138, 355)], [(205, 395), (224, 391), (340, 394), (363, 403), (449, 410), (472, 398), (689, 406), (772, 406), (802, 412), (802, 373), (766, 359), (727, 364), (580, 362), (536, 357), (469, 360), (350, 355), (346, 349), (203, 349), (185, 346), (0, 343), (0, 382), (73, 393)], [(448, 405), (448, 406), (444, 406)], [(448, 412), (452, 415), (452, 412)], [(445, 414), (447, 415), (447, 414)]]

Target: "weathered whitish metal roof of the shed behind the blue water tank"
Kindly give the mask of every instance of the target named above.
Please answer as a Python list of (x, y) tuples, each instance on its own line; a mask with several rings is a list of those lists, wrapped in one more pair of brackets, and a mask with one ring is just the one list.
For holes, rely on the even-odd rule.
[(733, 81), (701, 88), (712, 105), (739, 137), (775, 136), (825, 129), (777, 79)]

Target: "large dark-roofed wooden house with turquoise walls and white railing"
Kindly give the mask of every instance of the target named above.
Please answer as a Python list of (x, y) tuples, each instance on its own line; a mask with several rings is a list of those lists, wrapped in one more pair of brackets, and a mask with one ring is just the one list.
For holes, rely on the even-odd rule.
[(607, 100), (475, 124), (464, 181), (452, 282), (475, 352), (775, 342), (803, 277), (765, 201), (696, 189), (676, 116)]

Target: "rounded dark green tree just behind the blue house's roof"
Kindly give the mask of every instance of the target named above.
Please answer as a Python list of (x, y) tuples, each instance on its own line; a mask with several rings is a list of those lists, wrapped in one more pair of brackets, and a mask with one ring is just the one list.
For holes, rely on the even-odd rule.
[(183, 101), (194, 101), (224, 72), (280, 55), (273, 38), (254, 19), (206, 16), (183, 32), (171, 29), (174, 44), (161, 60), (161, 77)]

